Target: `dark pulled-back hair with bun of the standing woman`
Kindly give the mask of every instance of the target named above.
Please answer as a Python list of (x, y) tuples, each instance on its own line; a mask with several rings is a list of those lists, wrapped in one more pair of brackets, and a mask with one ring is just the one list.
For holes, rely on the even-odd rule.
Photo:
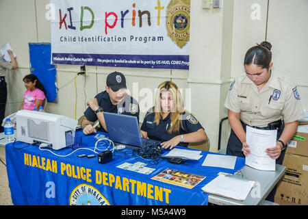
[(260, 44), (257, 44), (255, 47), (251, 47), (246, 52), (244, 58), (244, 64), (256, 64), (261, 68), (269, 68), (270, 62), (272, 61), (272, 44), (270, 42), (264, 41)]

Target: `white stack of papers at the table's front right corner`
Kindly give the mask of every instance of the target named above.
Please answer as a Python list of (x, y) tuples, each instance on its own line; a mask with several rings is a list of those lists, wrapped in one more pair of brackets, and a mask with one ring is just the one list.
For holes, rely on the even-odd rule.
[(245, 181), (235, 177), (228, 177), (227, 175), (218, 175), (218, 177), (207, 183), (202, 190), (210, 194), (244, 201), (253, 185), (255, 185), (255, 181)]

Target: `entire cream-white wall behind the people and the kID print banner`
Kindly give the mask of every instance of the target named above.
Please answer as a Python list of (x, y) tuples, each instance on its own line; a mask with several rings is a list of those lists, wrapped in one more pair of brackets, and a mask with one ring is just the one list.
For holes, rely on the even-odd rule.
[[(266, 38), (272, 43), (274, 69), (291, 76), (298, 85), (303, 105), (308, 109), (308, 77), (305, 68), (307, 57), (307, 0), (221, 0), (222, 8), (204, 10), (201, 0), (191, 0), (190, 70), (148, 68), (111, 68), (86, 66), (88, 77), (78, 76), (77, 111), (79, 118), (86, 109), (87, 99), (104, 90), (108, 73), (118, 70), (125, 74), (131, 94), (144, 103), (146, 89), (154, 93), (162, 81), (172, 80), (183, 88), (191, 89), (191, 111), (201, 122), (211, 141), (211, 151), (218, 144), (219, 121), (227, 116), (224, 99), (233, 77), (243, 71), (247, 49)], [(7, 77), (9, 84), (6, 114), (15, 112), (21, 104), (24, 75), (29, 74), (29, 42), (51, 42), (50, 23), (45, 18), (48, 0), (1, 0), (0, 45), (10, 42), (17, 54), (18, 70)], [(260, 19), (252, 20), (251, 5), (260, 6)], [(298, 6), (296, 6), (298, 5)], [(3, 22), (5, 21), (5, 22)], [(306, 21), (306, 22), (304, 22)], [(5, 30), (5, 31), (3, 31)], [(80, 66), (58, 65), (58, 103), (48, 103), (47, 112), (75, 118), (74, 77)], [(70, 82), (71, 81), (71, 82)], [(70, 82), (70, 83), (68, 83)], [(68, 84), (67, 84), (68, 83)], [(133, 83), (138, 90), (133, 92)], [(66, 86), (64, 86), (66, 85)], [(64, 87), (62, 87), (64, 86)], [(143, 106), (142, 106), (143, 107)], [(149, 106), (144, 106), (144, 108)], [(144, 113), (140, 114), (143, 120)], [(224, 128), (225, 130), (225, 128)], [(223, 133), (224, 146), (227, 131)]]

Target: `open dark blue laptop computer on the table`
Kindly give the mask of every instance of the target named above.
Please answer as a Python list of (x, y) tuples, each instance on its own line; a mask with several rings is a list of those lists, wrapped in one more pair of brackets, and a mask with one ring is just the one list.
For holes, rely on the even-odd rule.
[(108, 135), (116, 145), (123, 144), (128, 149), (155, 147), (162, 143), (158, 140), (141, 138), (136, 116), (103, 112)]

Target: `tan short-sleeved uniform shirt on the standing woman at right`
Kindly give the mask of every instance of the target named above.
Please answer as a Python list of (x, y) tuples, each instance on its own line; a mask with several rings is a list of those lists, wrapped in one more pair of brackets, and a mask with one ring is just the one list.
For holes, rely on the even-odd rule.
[(266, 127), (280, 119), (291, 123), (305, 117), (296, 86), (273, 72), (260, 91), (246, 73), (235, 78), (224, 106), (240, 113), (243, 123), (256, 127)]

